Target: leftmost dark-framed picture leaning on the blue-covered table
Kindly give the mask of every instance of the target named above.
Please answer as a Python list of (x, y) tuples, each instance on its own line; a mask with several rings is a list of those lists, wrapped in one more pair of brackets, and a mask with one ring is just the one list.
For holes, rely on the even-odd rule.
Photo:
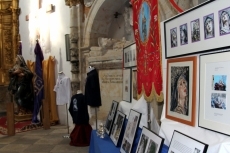
[(105, 123), (105, 132), (108, 135), (110, 135), (112, 125), (113, 125), (113, 121), (114, 121), (114, 117), (115, 117), (115, 114), (117, 112), (118, 105), (119, 105), (118, 102), (116, 102), (115, 100), (112, 101), (110, 111), (109, 111), (109, 114), (107, 116), (107, 120), (106, 120), (106, 123)]

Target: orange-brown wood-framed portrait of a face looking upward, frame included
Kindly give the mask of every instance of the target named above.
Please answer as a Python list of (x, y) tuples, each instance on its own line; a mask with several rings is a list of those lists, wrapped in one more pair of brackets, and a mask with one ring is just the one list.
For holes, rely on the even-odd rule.
[(197, 57), (167, 60), (166, 118), (195, 125)]

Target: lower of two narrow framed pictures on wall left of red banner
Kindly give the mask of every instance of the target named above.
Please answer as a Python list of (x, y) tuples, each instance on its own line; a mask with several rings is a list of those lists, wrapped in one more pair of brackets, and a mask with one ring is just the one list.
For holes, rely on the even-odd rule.
[(123, 100), (127, 102), (132, 101), (131, 97), (131, 80), (132, 80), (131, 69), (123, 70)]

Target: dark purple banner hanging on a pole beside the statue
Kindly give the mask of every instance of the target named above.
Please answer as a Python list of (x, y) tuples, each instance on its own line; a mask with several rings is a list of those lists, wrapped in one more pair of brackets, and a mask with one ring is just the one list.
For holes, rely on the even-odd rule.
[(42, 74), (42, 61), (44, 60), (42, 49), (37, 42), (34, 53), (36, 55), (35, 61), (35, 81), (34, 81), (34, 111), (33, 111), (33, 123), (40, 122), (37, 118), (38, 112), (44, 99), (44, 81)]

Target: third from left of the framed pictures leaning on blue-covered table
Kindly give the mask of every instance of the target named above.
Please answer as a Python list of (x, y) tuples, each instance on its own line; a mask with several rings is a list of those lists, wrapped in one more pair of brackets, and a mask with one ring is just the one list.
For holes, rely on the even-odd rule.
[(124, 137), (121, 143), (121, 153), (131, 152), (136, 130), (139, 127), (140, 119), (141, 113), (131, 109), (129, 112), (129, 118), (125, 129)]

